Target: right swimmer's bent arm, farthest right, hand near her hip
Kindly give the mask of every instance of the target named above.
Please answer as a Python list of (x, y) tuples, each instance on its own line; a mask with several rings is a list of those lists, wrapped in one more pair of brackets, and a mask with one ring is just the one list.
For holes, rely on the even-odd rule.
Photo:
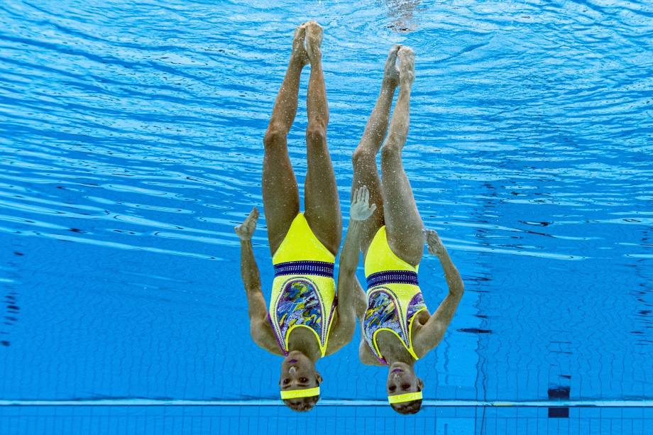
[(423, 356), (440, 343), (447, 326), (451, 323), (451, 319), (454, 318), (456, 308), (465, 291), (463, 280), (437, 233), (433, 230), (427, 230), (426, 236), (429, 253), (437, 255), (444, 269), (449, 294), (446, 295), (436, 312), (429, 317), (429, 320), (417, 332), (415, 350), (420, 356)]

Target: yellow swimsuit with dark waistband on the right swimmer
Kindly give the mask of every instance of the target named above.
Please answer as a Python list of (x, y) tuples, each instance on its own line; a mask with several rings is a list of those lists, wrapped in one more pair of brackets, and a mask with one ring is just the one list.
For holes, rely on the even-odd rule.
[(427, 309), (417, 282), (417, 269), (397, 257), (388, 245), (385, 225), (376, 232), (365, 258), (368, 307), (363, 316), (363, 336), (372, 353), (386, 363), (376, 343), (379, 331), (390, 331), (416, 360), (412, 347), (412, 322)]

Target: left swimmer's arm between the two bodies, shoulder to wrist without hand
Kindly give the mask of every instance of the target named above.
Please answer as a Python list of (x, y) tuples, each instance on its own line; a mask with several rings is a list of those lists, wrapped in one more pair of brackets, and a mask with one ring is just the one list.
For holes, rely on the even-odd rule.
[(360, 301), (358, 292), (360, 284), (356, 278), (360, 251), (362, 221), (349, 221), (345, 243), (340, 252), (338, 271), (338, 312), (337, 323), (329, 334), (327, 355), (338, 351), (351, 341), (356, 329), (356, 311)]

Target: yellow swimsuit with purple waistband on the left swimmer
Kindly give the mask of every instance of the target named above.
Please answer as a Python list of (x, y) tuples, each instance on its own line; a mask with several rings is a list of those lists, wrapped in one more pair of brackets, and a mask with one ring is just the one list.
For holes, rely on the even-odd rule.
[(317, 239), (304, 214), (290, 225), (272, 258), (275, 279), (268, 318), (283, 353), (290, 331), (313, 331), (322, 356), (327, 353), (331, 319), (336, 307), (334, 255)]

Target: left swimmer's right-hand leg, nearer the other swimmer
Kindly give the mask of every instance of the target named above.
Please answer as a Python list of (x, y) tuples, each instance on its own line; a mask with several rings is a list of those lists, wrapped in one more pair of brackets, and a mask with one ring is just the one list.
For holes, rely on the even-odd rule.
[(340, 247), (342, 216), (336, 176), (327, 147), (329, 106), (322, 71), (322, 27), (314, 21), (306, 23), (306, 50), (311, 62), (306, 111), (307, 173), (304, 185), (306, 220), (319, 241), (334, 255)]

